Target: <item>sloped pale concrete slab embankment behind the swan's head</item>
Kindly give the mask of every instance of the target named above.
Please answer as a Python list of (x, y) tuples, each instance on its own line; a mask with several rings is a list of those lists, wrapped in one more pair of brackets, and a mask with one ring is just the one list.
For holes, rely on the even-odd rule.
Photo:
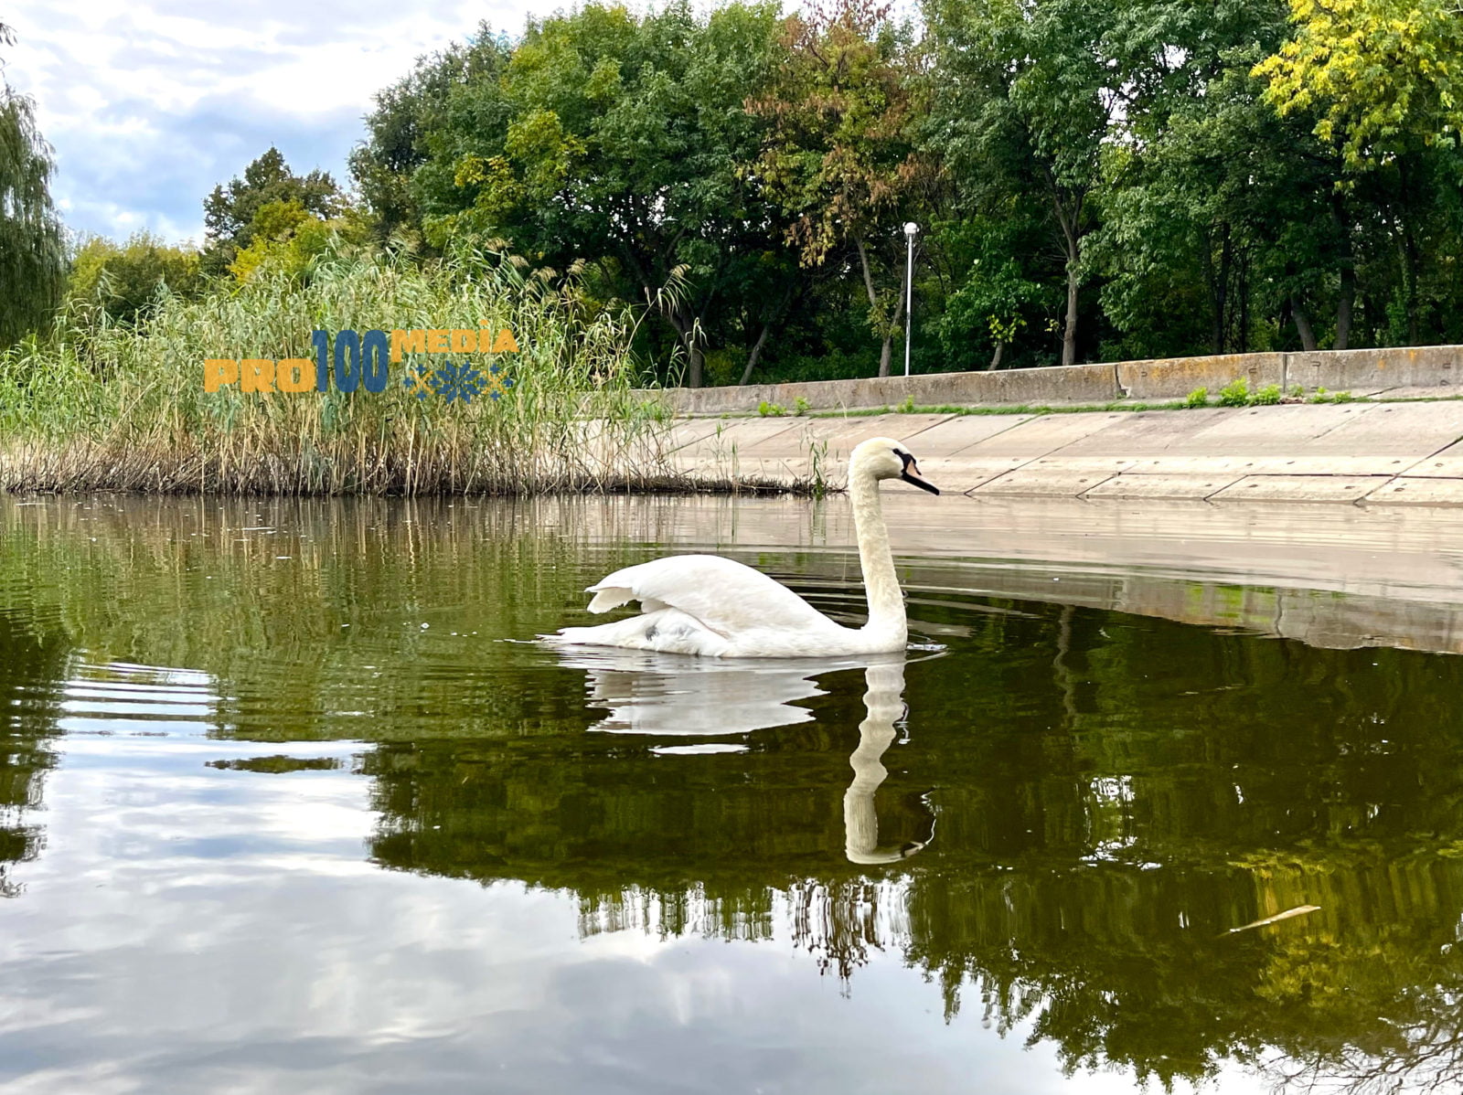
[(692, 418), (672, 461), (705, 482), (841, 487), (866, 437), (973, 497), (1463, 504), (1463, 401), (1191, 411)]

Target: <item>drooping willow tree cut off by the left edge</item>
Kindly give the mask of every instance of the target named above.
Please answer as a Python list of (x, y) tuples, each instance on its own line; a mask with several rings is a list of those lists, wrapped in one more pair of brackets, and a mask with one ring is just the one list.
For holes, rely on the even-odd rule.
[[(13, 41), (0, 23), (0, 44)], [(66, 285), (53, 171), (31, 101), (0, 82), (0, 348), (40, 327)]]

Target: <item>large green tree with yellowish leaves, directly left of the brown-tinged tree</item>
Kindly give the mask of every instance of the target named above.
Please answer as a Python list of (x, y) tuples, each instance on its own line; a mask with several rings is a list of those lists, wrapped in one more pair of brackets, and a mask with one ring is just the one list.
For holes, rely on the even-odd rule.
[(790, 265), (737, 171), (756, 155), (743, 104), (775, 32), (770, 4), (698, 16), (673, 3), (531, 20), (512, 50), (480, 34), (379, 99), (356, 162), (388, 171), (375, 200), (414, 209), (433, 247), (506, 244), (549, 270), (578, 262), (590, 292), (647, 301), (695, 386), (711, 345), (752, 357), (753, 332), (786, 316)]

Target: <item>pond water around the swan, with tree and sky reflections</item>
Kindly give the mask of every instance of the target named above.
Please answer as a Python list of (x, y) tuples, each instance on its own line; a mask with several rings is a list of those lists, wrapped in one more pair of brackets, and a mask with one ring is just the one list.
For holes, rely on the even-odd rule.
[(843, 507), (0, 499), (0, 1085), (1457, 1089), (1437, 620), (949, 556), (906, 656), (531, 642), (667, 541), (856, 621)]

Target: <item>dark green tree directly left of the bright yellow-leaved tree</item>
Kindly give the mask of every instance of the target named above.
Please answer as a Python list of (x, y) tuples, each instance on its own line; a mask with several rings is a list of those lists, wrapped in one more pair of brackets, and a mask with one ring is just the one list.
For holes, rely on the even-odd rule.
[(1279, 339), (1286, 317), (1315, 346), (1309, 311), (1349, 238), (1325, 149), (1249, 75), (1285, 34), (1274, 0), (1157, 0), (1110, 32), (1125, 108), (1090, 259), (1116, 352), (1244, 352)]

